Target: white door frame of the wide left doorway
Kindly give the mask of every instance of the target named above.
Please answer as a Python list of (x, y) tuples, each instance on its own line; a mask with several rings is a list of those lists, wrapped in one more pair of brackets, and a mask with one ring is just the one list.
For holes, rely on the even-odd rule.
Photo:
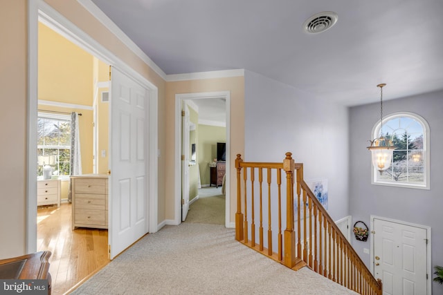
[[(107, 50), (104, 46), (91, 38), (87, 33), (80, 30), (78, 26), (71, 23), (66, 17), (57, 12), (48, 3), (43, 0), (28, 0), (28, 130), (27, 130), (27, 146), (28, 153), (26, 164), (27, 173), (27, 189), (26, 189), (26, 253), (37, 251), (37, 46), (38, 46), (38, 22), (42, 21), (46, 26), (55, 30), (69, 41), (80, 46), (87, 53), (96, 56), (110, 66), (114, 66), (123, 71), (138, 83), (142, 84), (149, 91), (149, 121), (150, 126), (146, 131), (149, 133), (149, 167), (146, 167), (150, 174), (147, 202), (149, 202), (149, 231), (154, 233), (159, 230), (158, 226), (158, 108), (159, 94), (158, 88), (149, 80), (128, 66), (114, 53)], [(111, 191), (109, 191), (111, 198)], [(109, 219), (111, 218), (109, 213)]]

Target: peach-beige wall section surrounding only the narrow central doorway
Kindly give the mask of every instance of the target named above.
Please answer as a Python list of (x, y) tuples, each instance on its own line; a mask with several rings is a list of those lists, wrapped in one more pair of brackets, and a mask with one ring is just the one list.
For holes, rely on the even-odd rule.
[[(230, 221), (235, 219), (236, 211), (236, 187), (235, 178), (235, 155), (241, 153), (244, 156), (244, 77), (228, 77), (217, 79), (201, 79), (192, 81), (168, 82), (166, 87), (165, 117), (166, 134), (166, 160), (168, 169), (179, 169), (175, 162), (175, 95), (179, 93), (204, 93), (213, 91), (230, 91)], [(198, 153), (198, 151), (197, 151)], [(173, 182), (173, 174), (170, 174), (168, 182)], [(165, 218), (174, 219), (174, 186), (165, 187), (165, 202), (170, 204), (165, 208)]]

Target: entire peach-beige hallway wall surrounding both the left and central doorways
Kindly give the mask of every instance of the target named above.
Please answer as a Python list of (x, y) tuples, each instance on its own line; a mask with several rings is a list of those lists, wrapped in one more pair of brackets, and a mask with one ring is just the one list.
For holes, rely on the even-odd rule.
[[(175, 94), (230, 91), (230, 165), (236, 153), (244, 154), (244, 77), (168, 82), (134, 54), (76, 0), (45, 0), (62, 16), (134, 68), (158, 88), (159, 196), (158, 221), (174, 218)], [(34, 26), (34, 24), (31, 24)], [(37, 26), (37, 24), (35, 24)], [(26, 194), (28, 190), (28, 0), (0, 3), (0, 134), (8, 139), (0, 147), (0, 258), (26, 253)], [(31, 110), (33, 111), (33, 110)], [(83, 113), (84, 111), (82, 111)], [(84, 120), (86, 121), (86, 120)], [(11, 128), (11, 122), (14, 122)], [(168, 179), (165, 175), (168, 172)], [(171, 176), (172, 175), (172, 176)], [(230, 183), (235, 184), (231, 171)], [(32, 196), (31, 196), (32, 198)], [(36, 197), (35, 197), (36, 198)], [(235, 212), (235, 185), (230, 186), (231, 218)], [(8, 204), (7, 206), (5, 204)]]

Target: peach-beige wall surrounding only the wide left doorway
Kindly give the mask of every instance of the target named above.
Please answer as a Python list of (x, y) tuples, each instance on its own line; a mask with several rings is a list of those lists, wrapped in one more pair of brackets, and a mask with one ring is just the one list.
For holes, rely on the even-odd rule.
[[(159, 149), (164, 151), (164, 80), (100, 21), (93, 18), (78, 1), (46, 0), (46, 3), (158, 87)], [(0, 258), (6, 258), (26, 253), (28, 0), (1, 1), (0, 36), (0, 103), (5, 106), (0, 108), (0, 134), (8, 139), (0, 147)], [(159, 158), (158, 178), (159, 220), (164, 220), (164, 157)]]

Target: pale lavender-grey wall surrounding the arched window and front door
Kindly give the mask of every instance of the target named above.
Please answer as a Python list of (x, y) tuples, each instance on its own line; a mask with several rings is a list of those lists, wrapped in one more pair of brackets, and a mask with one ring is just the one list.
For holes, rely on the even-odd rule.
[[(388, 91), (387, 91), (388, 93)], [(350, 213), (368, 226), (370, 215), (403, 220), (432, 228), (432, 267), (443, 265), (443, 91), (383, 101), (383, 115), (411, 112), (424, 117), (431, 129), (431, 189), (408, 189), (371, 184), (370, 152), (366, 149), (374, 124), (379, 120), (380, 104), (350, 108)], [(357, 253), (369, 265), (363, 248), (368, 242), (353, 240)], [(442, 286), (433, 285), (443, 290)]]

